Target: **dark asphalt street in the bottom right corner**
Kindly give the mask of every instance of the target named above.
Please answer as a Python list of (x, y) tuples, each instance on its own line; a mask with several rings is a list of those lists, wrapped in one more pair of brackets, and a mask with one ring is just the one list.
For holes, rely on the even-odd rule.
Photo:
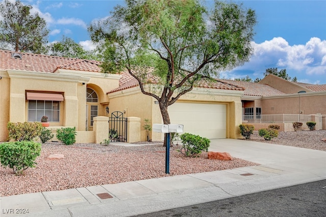
[(326, 179), (137, 217), (324, 217)]

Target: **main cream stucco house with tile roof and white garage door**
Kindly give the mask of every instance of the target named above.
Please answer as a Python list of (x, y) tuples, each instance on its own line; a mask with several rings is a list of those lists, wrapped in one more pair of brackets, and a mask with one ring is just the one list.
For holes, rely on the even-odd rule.
[[(8, 122), (40, 122), (47, 115), (53, 132), (76, 127), (77, 142), (94, 142), (94, 117), (108, 117), (114, 111), (139, 117), (134, 131), (146, 140), (145, 118), (151, 124), (162, 123), (155, 99), (144, 95), (128, 73), (104, 76), (99, 65), (91, 60), (0, 50), (0, 141), (8, 138)], [(169, 107), (171, 122), (183, 124), (184, 132), (208, 138), (238, 138), (243, 91), (222, 80), (203, 81)], [(152, 140), (161, 138), (159, 133), (151, 135)]]

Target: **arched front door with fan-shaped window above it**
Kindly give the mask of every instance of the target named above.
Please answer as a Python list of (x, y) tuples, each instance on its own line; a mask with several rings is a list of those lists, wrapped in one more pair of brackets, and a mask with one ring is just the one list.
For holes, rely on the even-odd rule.
[(93, 118), (98, 116), (97, 93), (92, 88), (87, 88), (86, 92), (86, 128), (93, 130)]

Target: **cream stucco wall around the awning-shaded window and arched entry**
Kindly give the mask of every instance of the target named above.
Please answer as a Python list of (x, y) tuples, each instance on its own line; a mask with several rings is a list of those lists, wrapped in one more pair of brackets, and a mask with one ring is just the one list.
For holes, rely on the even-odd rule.
[(91, 86), (99, 97), (98, 115), (105, 115), (108, 104), (106, 91), (119, 86), (120, 75), (105, 77), (102, 73), (59, 69), (56, 73), (37, 71), (0, 71), (0, 140), (8, 137), (8, 122), (28, 121), (28, 101), (26, 91), (62, 93), (60, 120), (51, 122), (50, 127), (86, 128), (86, 88)]

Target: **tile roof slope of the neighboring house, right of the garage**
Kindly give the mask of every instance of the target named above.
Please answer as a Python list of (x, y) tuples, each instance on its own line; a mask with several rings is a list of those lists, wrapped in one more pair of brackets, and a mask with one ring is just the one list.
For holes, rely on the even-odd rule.
[(237, 85), (240, 87), (244, 87), (244, 95), (253, 95), (253, 96), (270, 96), (270, 95), (284, 95), (286, 93), (275, 89), (266, 84), (258, 84), (254, 82), (246, 82), (246, 81), (233, 81), (233, 80), (222, 80), (226, 83), (230, 83), (233, 85)]

